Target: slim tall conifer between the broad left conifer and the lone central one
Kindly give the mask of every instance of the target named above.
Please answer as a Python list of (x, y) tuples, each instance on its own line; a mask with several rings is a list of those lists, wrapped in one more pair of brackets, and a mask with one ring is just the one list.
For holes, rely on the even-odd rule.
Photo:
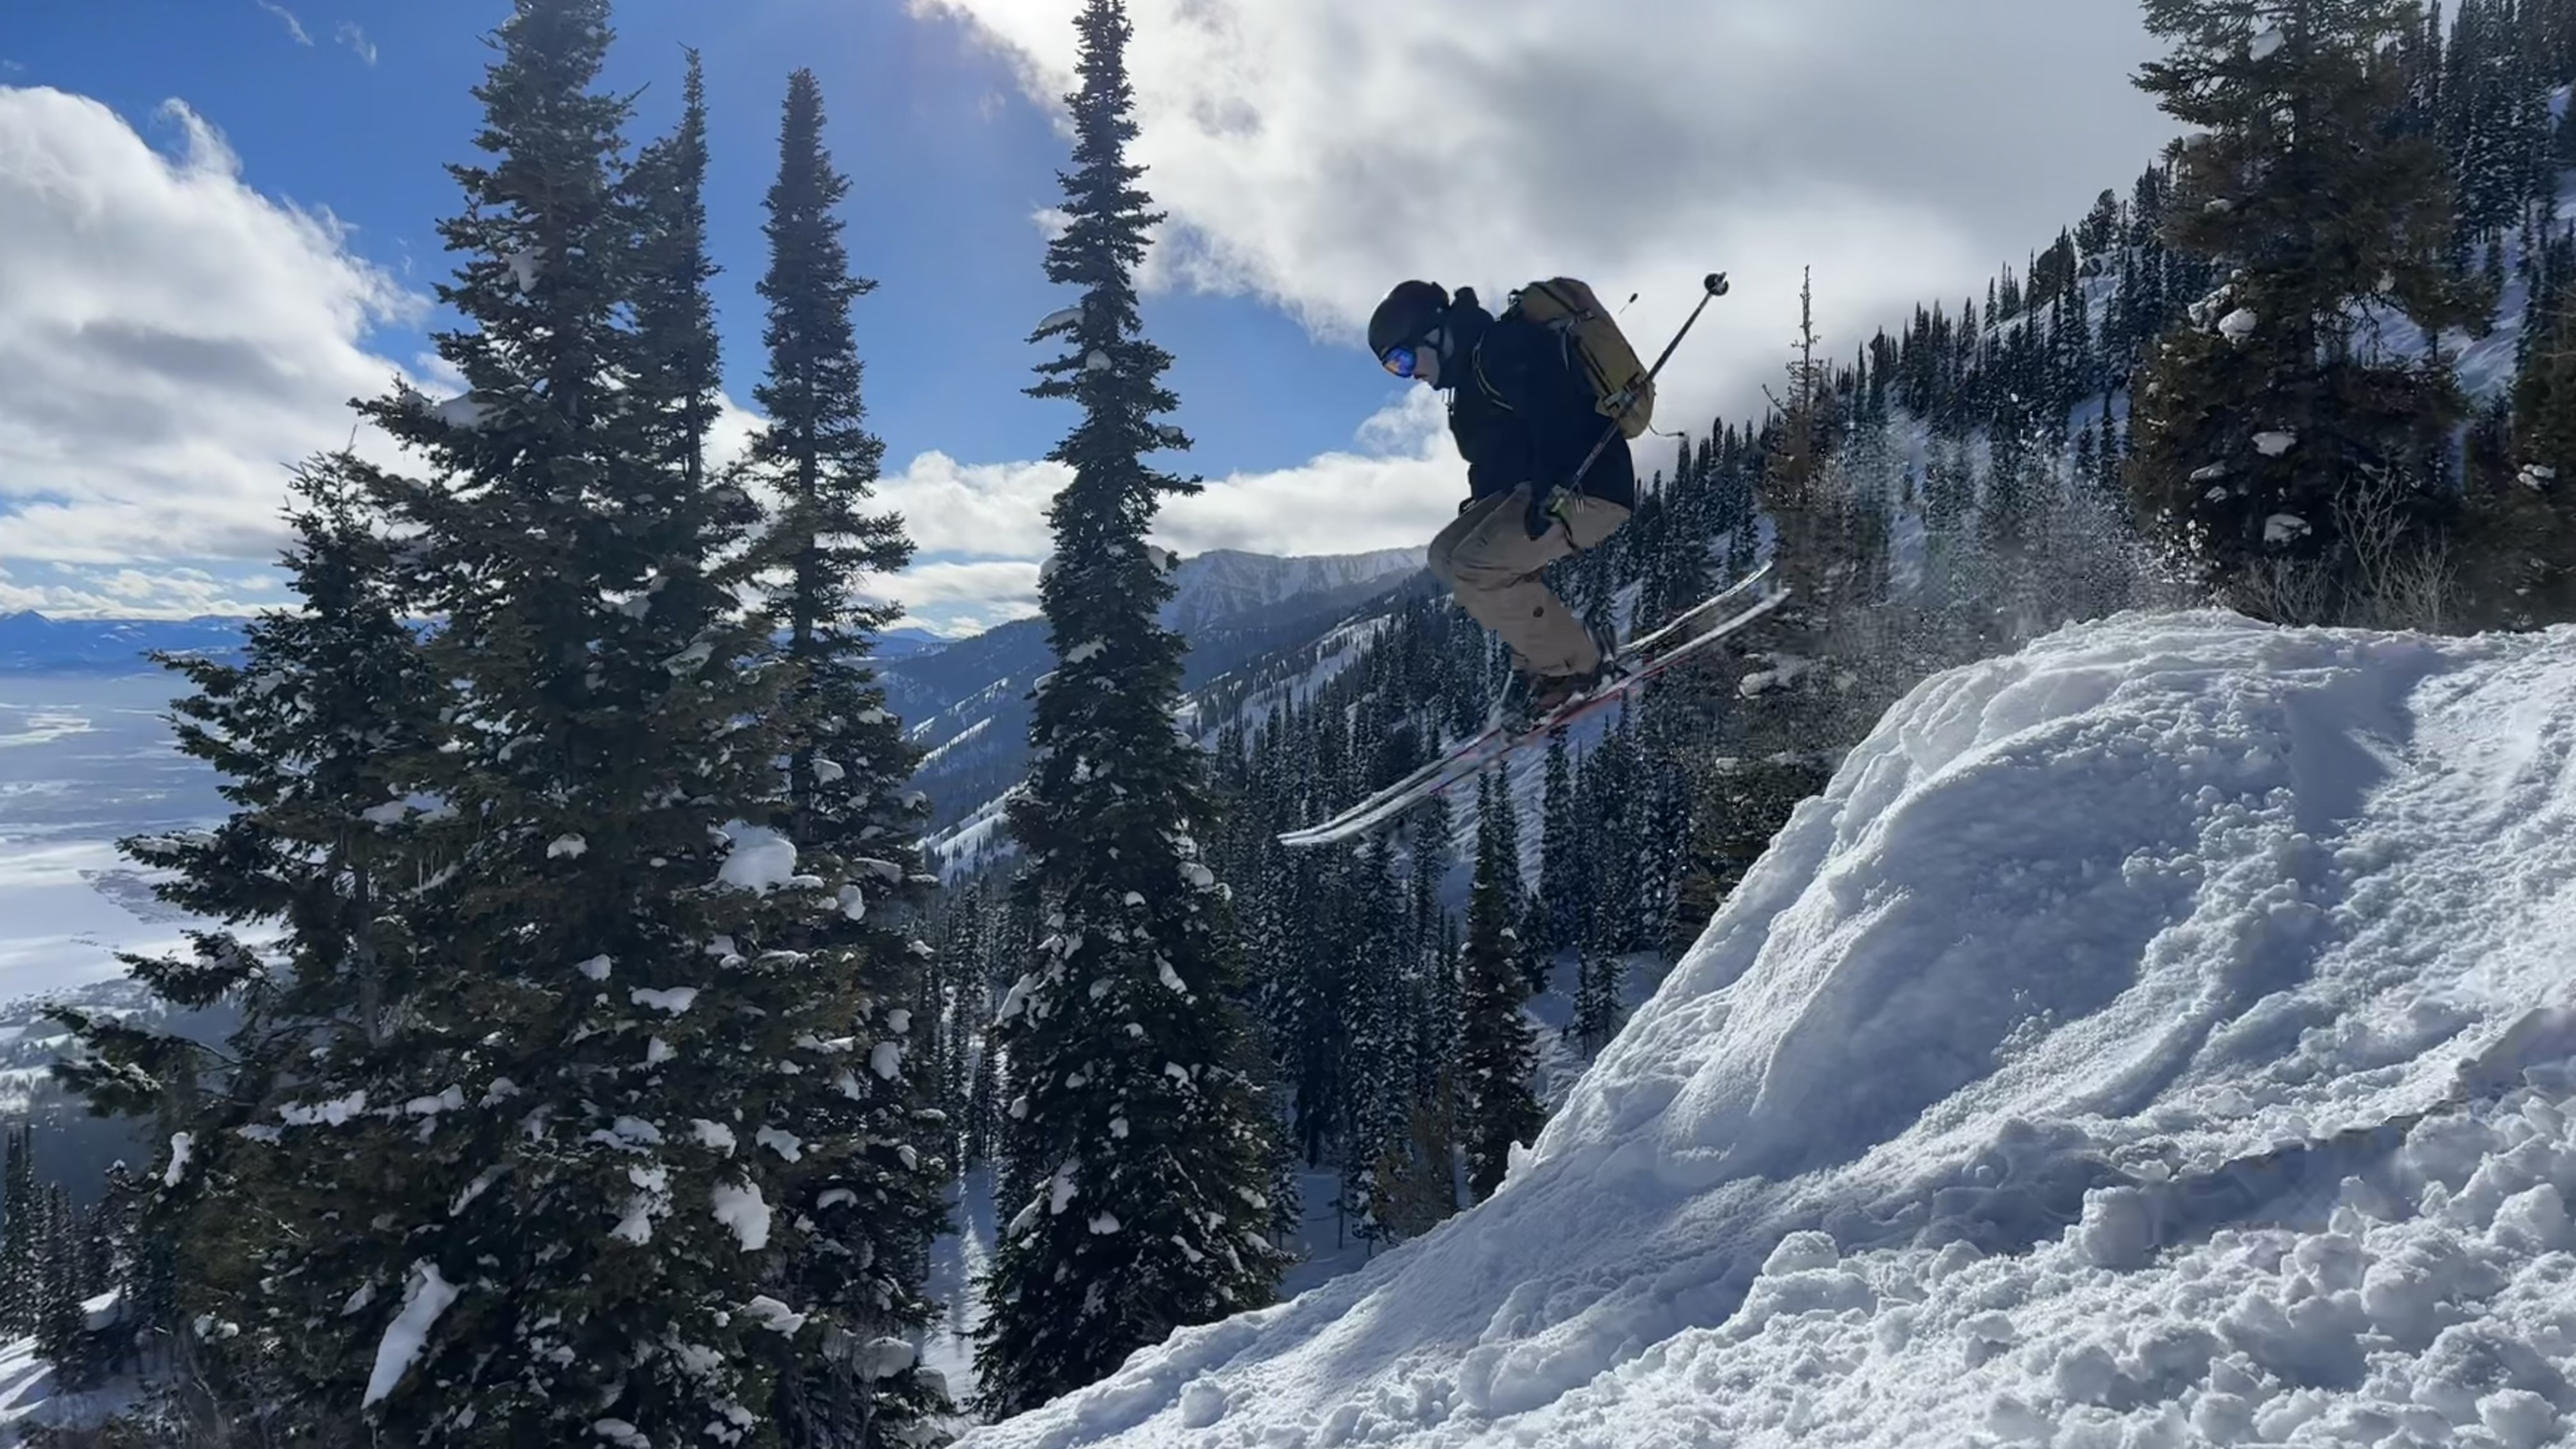
[[(902, 1062), (938, 1044), (938, 1000), (904, 918), (922, 905), (922, 797), (907, 789), (917, 750), (884, 709), (868, 668), (891, 608), (860, 601), (866, 575), (902, 570), (902, 521), (866, 511), (884, 443), (863, 428), (863, 364), (850, 304), (876, 284), (850, 276), (842, 219), (850, 191), (822, 139), (822, 88), (788, 77), (778, 180), (768, 193), (768, 376), (755, 397), (768, 425), (752, 474), (781, 498), (765, 539), (768, 593), (786, 624), (793, 676), (786, 722), (786, 838), (806, 869), (855, 879), (850, 908), (796, 931), (796, 949), (829, 946), (850, 980), (817, 1000), (835, 1036), (873, 1029), (891, 1052), (868, 1070), (814, 1080), (799, 1111), (809, 1168), (799, 1183), (796, 1302), (829, 1320), (824, 1354), (791, 1361), (778, 1418), (788, 1444), (902, 1444), (945, 1413), (904, 1333), (930, 1323), (920, 1263), (938, 1235), (948, 1129)], [(848, 1021), (837, 1021), (850, 1013)], [(896, 1070), (889, 1070), (896, 1067)], [(927, 1070), (927, 1065), (925, 1065)]]

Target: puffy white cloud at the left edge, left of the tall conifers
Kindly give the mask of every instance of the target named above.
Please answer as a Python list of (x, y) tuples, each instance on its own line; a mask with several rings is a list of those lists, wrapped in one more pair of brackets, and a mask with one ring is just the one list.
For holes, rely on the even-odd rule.
[(0, 559), (265, 565), (289, 464), (402, 371), (368, 327), (425, 309), (185, 106), (160, 124), (170, 155), (98, 101), (0, 88)]

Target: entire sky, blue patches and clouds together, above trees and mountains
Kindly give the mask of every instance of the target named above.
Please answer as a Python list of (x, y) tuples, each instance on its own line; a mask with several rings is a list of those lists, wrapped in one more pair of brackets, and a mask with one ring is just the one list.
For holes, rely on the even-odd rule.
[[(2123, 0), (1131, 0), (1136, 157), (1172, 224), (1146, 327), (1177, 356), (1167, 511), (1182, 552), (1419, 544), (1461, 469), (1427, 394), (1355, 327), (1404, 276), (1494, 297), (1569, 271), (1638, 291), (1649, 353), (1728, 268), (1667, 374), (1667, 425), (1759, 407), (1816, 266), (1844, 351), (1981, 289), (2169, 131), (2125, 72)], [(760, 374), (760, 193), (786, 75), (817, 70), (855, 180), (853, 263), (889, 505), (922, 544), (886, 585), (961, 632), (1033, 606), (1041, 459), (1020, 394), (1059, 199), (1077, 0), (621, 0), (636, 137), (706, 57), (726, 389)], [(456, 206), (500, 0), (13, 0), (0, 28), (0, 608), (278, 601), (283, 464), (340, 402), (435, 382), (435, 222)], [(1991, 75), (1989, 75), (1991, 72)], [(1996, 85), (1996, 77), (2009, 83)], [(1971, 80), (1971, 85), (1960, 85)], [(1783, 116), (1811, 116), (1783, 126)], [(1672, 443), (1646, 443), (1646, 464)]]

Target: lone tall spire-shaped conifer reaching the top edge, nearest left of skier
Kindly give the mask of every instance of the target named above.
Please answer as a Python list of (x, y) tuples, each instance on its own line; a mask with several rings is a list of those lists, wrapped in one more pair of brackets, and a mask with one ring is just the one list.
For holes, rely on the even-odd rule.
[(1172, 583), (1146, 547), (1164, 495), (1198, 485), (1146, 467), (1188, 438), (1170, 356), (1141, 335), (1133, 268), (1159, 219), (1126, 160), (1136, 134), (1121, 0), (1077, 18), (1074, 170), (1046, 276), (1077, 286), (1033, 340), (1061, 335), (1036, 397), (1082, 407), (1048, 456), (1054, 567), (1041, 603), (1056, 670), (1038, 688), (1030, 784), (1010, 828), (1030, 859), (1046, 936), (999, 1008), (1012, 1152), (1025, 1160), (984, 1299), (984, 1408), (1018, 1413), (1115, 1369), (1172, 1328), (1270, 1302), (1270, 1124), (1249, 1075), (1249, 1021), (1198, 745), (1172, 727), (1182, 639), (1157, 621)]

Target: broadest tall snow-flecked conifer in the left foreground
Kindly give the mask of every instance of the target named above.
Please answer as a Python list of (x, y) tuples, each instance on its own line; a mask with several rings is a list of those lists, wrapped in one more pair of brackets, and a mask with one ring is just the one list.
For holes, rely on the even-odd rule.
[(461, 701), (422, 781), (440, 931), (374, 1091), (314, 1129), (376, 1165), (343, 1207), (381, 1256), (340, 1284), (363, 1356), (335, 1400), (425, 1446), (760, 1423), (778, 1341), (832, 1328), (778, 1297), (811, 1083), (902, 1036), (860, 1016), (848, 946), (804, 941), (863, 884), (765, 825), (786, 730), (773, 621), (742, 603), (755, 508), (672, 446), (685, 387), (639, 382), (644, 327), (698, 345), (690, 168), (636, 204), (629, 106), (592, 90), (605, 18), (502, 23), (487, 162), (453, 168), (440, 227), (464, 327), (435, 340), (469, 392), (363, 405), (433, 474), (376, 498)]

